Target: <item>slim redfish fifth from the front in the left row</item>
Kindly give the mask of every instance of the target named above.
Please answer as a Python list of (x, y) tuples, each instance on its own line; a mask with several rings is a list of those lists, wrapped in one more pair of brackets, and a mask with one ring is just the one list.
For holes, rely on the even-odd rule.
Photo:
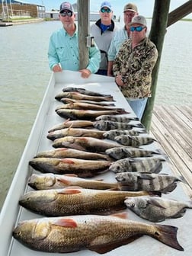
[(94, 152), (85, 152), (78, 149), (59, 148), (38, 152), (35, 158), (80, 158), (85, 160), (107, 160), (111, 161), (108, 155)]

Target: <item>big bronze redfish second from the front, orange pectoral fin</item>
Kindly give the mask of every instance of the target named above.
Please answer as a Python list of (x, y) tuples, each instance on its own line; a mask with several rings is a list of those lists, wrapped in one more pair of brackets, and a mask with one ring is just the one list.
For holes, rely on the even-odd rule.
[(126, 197), (149, 195), (146, 191), (94, 190), (79, 187), (34, 190), (24, 194), (19, 204), (45, 216), (109, 214), (126, 209)]

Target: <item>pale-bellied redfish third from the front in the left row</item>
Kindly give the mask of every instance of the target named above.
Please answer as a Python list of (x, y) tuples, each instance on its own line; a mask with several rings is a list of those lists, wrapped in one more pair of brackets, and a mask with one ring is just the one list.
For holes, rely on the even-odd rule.
[(83, 187), (90, 189), (106, 190), (118, 188), (117, 182), (107, 183), (101, 180), (78, 178), (75, 174), (32, 174), (28, 185), (35, 190), (49, 190), (65, 187)]

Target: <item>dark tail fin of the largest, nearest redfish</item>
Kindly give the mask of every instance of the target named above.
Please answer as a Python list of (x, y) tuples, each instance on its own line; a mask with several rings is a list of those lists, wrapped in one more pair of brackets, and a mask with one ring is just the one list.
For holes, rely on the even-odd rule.
[(165, 245), (170, 246), (171, 248), (177, 249), (179, 251), (184, 251), (184, 248), (181, 247), (178, 243), (177, 232), (178, 228), (175, 226), (168, 225), (154, 225), (156, 231), (152, 235), (153, 238), (164, 243)]

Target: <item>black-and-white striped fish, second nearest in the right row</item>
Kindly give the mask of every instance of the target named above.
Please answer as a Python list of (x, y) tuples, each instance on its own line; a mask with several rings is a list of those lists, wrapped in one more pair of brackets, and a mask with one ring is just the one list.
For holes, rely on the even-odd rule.
[(174, 190), (177, 187), (177, 181), (181, 181), (179, 178), (168, 174), (140, 172), (117, 173), (115, 178), (130, 191), (160, 191), (165, 194)]

